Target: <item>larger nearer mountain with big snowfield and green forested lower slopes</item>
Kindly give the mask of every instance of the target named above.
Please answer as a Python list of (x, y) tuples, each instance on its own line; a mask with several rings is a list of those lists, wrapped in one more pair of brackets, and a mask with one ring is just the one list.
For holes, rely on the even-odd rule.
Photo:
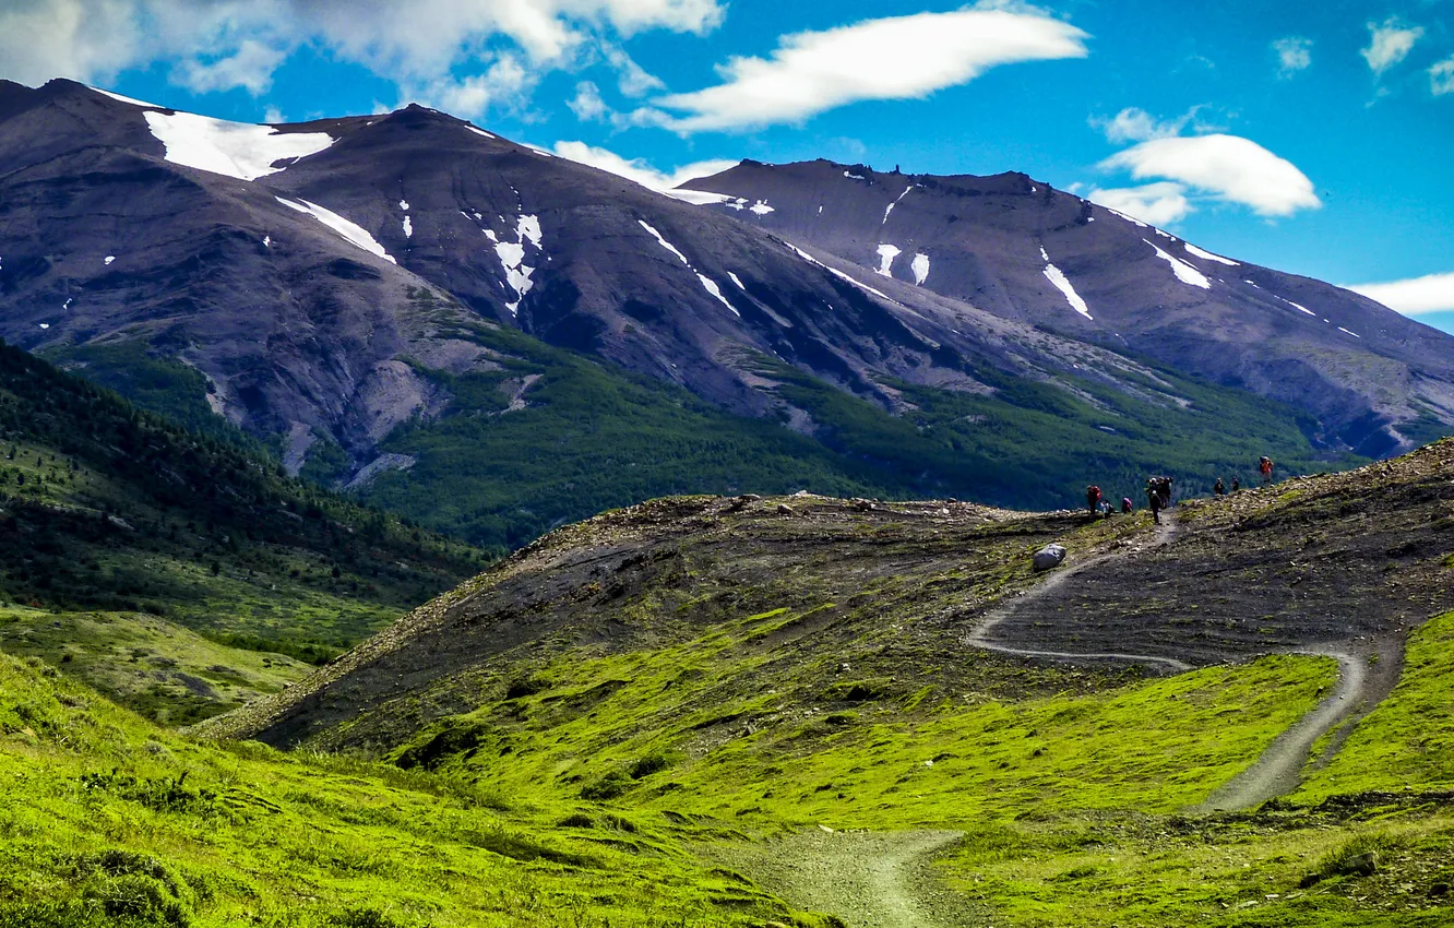
[[(1262, 454), (1336, 468), (1397, 447), (1384, 425), (1450, 428), (1445, 368), (1399, 367), (1371, 335), (1317, 348), (1346, 375), (1316, 401), (1266, 399), (419, 106), (247, 127), (6, 83), (0, 163), (0, 335), (496, 550), (669, 493), (1044, 508), (1153, 471), (1210, 487)], [(1387, 415), (1359, 399), (1374, 368)]]

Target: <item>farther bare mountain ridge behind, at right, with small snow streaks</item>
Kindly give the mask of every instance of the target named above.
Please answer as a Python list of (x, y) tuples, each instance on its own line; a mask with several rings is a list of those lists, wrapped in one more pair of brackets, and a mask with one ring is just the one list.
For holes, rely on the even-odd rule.
[(1021, 173), (743, 161), (708, 208), (1002, 319), (1290, 403), (1380, 457), (1445, 431), (1448, 336), (1346, 289), (1213, 255)]

